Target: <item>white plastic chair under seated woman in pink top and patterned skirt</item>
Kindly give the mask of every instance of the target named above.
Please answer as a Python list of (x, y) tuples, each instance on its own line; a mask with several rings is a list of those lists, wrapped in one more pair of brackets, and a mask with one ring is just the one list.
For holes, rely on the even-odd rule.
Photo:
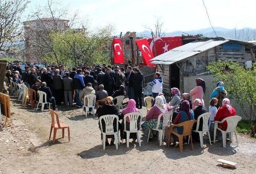
[[(163, 117), (163, 126), (162, 126), (162, 129), (158, 129), (161, 117)], [(165, 127), (170, 124), (171, 119), (172, 119), (172, 111), (161, 113), (158, 116), (156, 128), (152, 129), (154, 131), (158, 131), (158, 140), (159, 140), (160, 146), (162, 146), (162, 139), (164, 139)], [(150, 131), (151, 129), (148, 131), (148, 139), (149, 139)], [(148, 143), (148, 140), (147, 140), (147, 143)]]

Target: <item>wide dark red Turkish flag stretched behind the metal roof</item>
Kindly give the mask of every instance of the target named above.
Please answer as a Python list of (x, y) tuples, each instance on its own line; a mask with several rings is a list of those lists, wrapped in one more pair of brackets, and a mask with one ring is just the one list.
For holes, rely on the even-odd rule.
[(149, 38), (148, 44), (150, 45), (150, 50), (152, 51), (154, 57), (183, 45), (181, 36), (155, 37), (154, 42), (152, 38)]

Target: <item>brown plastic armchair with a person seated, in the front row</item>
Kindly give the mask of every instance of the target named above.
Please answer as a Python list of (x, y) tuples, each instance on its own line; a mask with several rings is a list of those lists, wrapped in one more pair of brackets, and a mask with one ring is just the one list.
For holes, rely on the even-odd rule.
[[(180, 152), (182, 152), (182, 150), (183, 150), (183, 137), (185, 137), (185, 136), (190, 137), (191, 147), (192, 147), (192, 150), (194, 150), (193, 142), (192, 142), (192, 135), (191, 135), (192, 127), (193, 127), (194, 123), (196, 123), (196, 120), (184, 121), (184, 122), (179, 123), (177, 125), (174, 125), (174, 124), (171, 123), (170, 124), (170, 129), (169, 129), (168, 143), (167, 143), (168, 147), (170, 147), (171, 134), (174, 134), (179, 138)], [(183, 126), (183, 134), (180, 135), (176, 132), (172, 132), (172, 127), (174, 127), (174, 126), (175, 127), (182, 127)]]

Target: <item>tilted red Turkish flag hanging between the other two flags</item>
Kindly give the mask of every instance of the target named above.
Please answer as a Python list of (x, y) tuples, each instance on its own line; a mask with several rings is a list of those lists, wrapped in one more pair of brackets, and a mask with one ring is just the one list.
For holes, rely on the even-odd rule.
[(149, 61), (149, 60), (153, 59), (154, 56), (150, 50), (147, 39), (138, 39), (135, 41), (142, 53), (143, 64), (146, 66), (156, 66), (155, 64), (150, 64), (152, 61)]

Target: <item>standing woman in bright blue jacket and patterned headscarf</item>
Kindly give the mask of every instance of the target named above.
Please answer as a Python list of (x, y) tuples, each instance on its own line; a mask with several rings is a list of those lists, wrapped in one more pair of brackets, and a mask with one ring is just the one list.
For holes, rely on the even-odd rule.
[(216, 105), (216, 108), (219, 108), (222, 106), (222, 100), (227, 96), (227, 91), (224, 88), (224, 82), (217, 82), (216, 88), (212, 91), (212, 94), (210, 96), (210, 99), (217, 98), (218, 104)]

